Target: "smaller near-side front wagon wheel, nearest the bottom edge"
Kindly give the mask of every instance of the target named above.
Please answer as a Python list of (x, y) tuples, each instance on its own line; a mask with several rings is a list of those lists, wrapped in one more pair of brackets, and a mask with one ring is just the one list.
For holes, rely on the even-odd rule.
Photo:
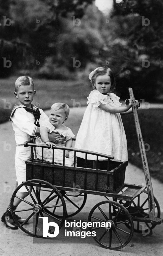
[[(96, 204), (90, 211), (88, 220), (91, 222), (109, 222), (108, 227), (92, 226), (91, 231), (96, 232), (93, 237), (102, 247), (118, 250), (126, 246), (133, 235), (134, 226), (128, 210), (115, 201), (102, 201)], [(130, 223), (130, 231), (125, 223)]]

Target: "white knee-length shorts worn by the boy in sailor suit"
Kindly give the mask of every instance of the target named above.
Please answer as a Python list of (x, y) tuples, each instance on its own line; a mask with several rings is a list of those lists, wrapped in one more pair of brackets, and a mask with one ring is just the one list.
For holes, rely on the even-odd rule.
[[(15, 152), (15, 170), (16, 170), (16, 180), (18, 182), (18, 186), (26, 181), (26, 161), (31, 158), (31, 147), (24, 147), (23, 145), (19, 145), (16, 147)], [(31, 191), (31, 187), (28, 187)], [(19, 189), (19, 192), (27, 192), (27, 189), (22, 186)]]

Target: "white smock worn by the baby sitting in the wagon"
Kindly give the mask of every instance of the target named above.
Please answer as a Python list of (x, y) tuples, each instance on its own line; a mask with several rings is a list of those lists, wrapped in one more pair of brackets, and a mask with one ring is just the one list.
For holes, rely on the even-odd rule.
[[(40, 126), (45, 126), (48, 128), (48, 132), (59, 132), (60, 135), (66, 137), (66, 140), (63, 143), (56, 144), (56, 146), (65, 147), (66, 141), (70, 138), (73, 138), (75, 135), (71, 131), (71, 129), (65, 125), (61, 125), (59, 129), (56, 129), (54, 125), (52, 125), (49, 121), (40, 122)], [(41, 140), (41, 138), (36, 138), (36, 144), (44, 144), (45, 143)], [(36, 147), (36, 154), (37, 158), (42, 158), (42, 148)], [(44, 148), (44, 160), (52, 162), (53, 158), (53, 151), (52, 149)], [(69, 152), (69, 158), (65, 157), (65, 165), (72, 166), (74, 163), (74, 152)], [(54, 164), (63, 165), (63, 150), (61, 149), (54, 149)]]

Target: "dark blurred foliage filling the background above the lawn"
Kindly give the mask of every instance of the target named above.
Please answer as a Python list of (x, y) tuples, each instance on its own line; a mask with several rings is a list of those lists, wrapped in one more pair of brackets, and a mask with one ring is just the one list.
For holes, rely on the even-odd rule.
[[(157, 98), (163, 90), (163, 2), (117, 2), (105, 17), (93, 0), (0, 0), (1, 57), (12, 61), (4, 68), (0, 58), (0, 76), (22, 69), (61, 78), (65, 69), (62, 79), (71, 79), (70, 72), (81, 77), (88, 67), (109, 65), (119, 96), (127, 98), (133, 87), (138, 99)], [(80, 68), (73, 68), (72, 58)]]

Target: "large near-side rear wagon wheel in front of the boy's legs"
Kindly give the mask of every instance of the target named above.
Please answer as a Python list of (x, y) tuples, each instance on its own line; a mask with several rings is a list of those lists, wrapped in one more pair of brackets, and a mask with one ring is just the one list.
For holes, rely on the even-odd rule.
[[(30, 192), (30, 189), (28, 186), (31, 186), (32, 191)], [(43, 187), (47, 187), (47, 191), (49, 189), (49, 192), (46, 194), (42, 193), (41, 189)], [(19, 189), (23, 187), (26, 189), (26, 191), (29, 193), (29, 195), (22, 199), (19, 195)], [(38, 191), (36, 193), (35, 191)], [(24, 190), (25, 191), (25, 190)], [(18, 205), (17, 209), (13, 211), (13, 202), (14, 199), (18, 198), (21, 200), (20, 204)], [(54, 203), (54, 199), (59, 198), (60, 204), (57, 206)], [(56, 218), (54, 215), (47, 212), (47, 209), (54, 209), (59, 208), (59, 210), (62, 212), (62, 218)], [(48, 222), (55, 222), (58, 224), (59, 229), (64, 224), (65, 218), (66, 218), (66, 204), (63, 196), (60, 194), (58, 189), (54, 187), (52, 184), (44, 181), (44, 180), (28, 180), (21, 185), (17, 187), (17, 189), (14, 191), (12, 198), (11, 198), (11, 213), (12, 217), (14, 219), (14, 222), (16, 225), (25, 233), (29, 234), (33, 237), (43, 237), (43, 219), (39, 217), (48, 217)], [(23, 223), (19, 223), (17, 220), (17, 217), (15, 214), (21, 215), (21, 218), (25, 219)], [(49, 227), (49, 233), (54, 233), (54, 229)]]

